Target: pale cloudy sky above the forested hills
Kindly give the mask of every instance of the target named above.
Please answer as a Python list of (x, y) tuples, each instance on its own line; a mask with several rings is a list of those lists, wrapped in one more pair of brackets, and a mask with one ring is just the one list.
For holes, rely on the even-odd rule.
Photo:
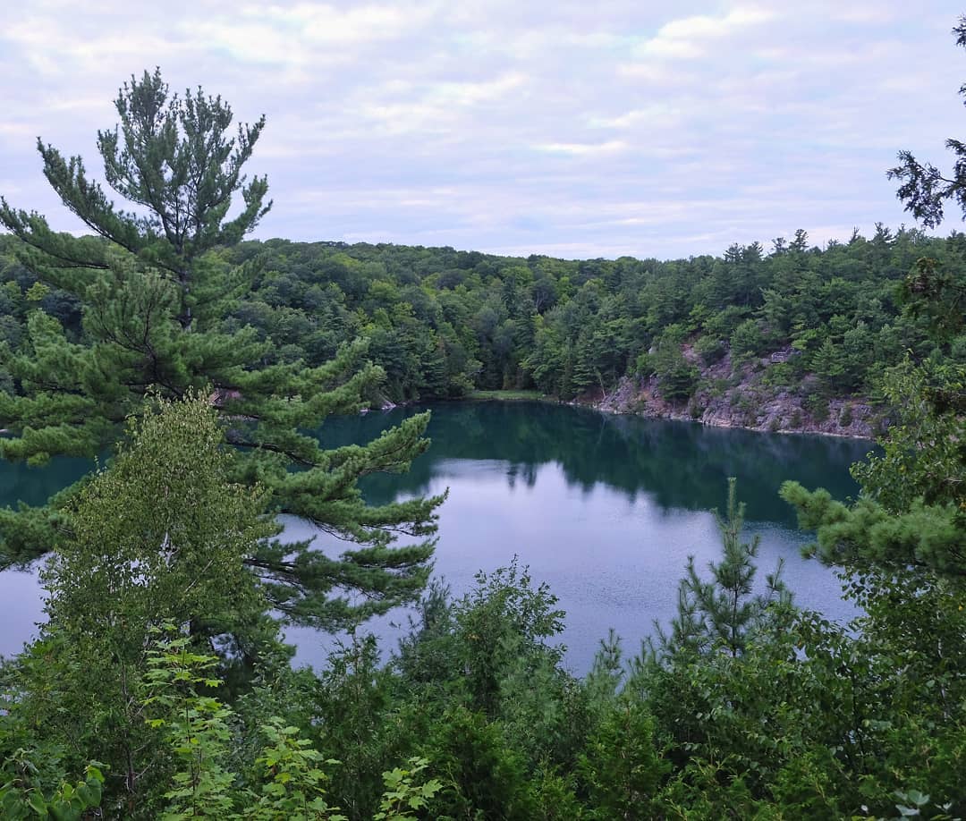
[[(132, 73), (266, 115), (252, 236), (565, 258), (822, 245), (913, 224), (886, 170), (966, 138), (966, 8), (909, 0), (21, 0), (0, 27), (0, 194), (82, 226), (36, 140), (97, 176)], [(958, 213), (939, 229), (961, 228)]]

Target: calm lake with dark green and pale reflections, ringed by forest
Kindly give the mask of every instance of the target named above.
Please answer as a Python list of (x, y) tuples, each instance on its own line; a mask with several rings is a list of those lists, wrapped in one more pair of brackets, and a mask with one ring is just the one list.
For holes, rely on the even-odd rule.
[[(720, 537), (712, 510), (724, 508), (727, 477), (738, 478), (749, 534), (761, 536), (759, 577), (784, 559), (783, 579), (803, 607), (845, 619), (854, 609), (839, 598), (833, 571), (805, 560), (808, 534), (778, 496), (785, 479), (856, 495), (848, 466), (872, 445), (856, 439), (761, 434), (688, 422), (613, 416), (541, 403), (451, 403), (433, 410), (433, 445), (409, 473), (367, 477), (374, 503), (449, 488), (440, 509), (435, 573), (454, 593), (478, 570), (507, 565), (514, 555), (534, 580), (547, 581), (567, 611), (561, 640), (566, 661), (584, 672), (613, 627), (628, 651), (674, 614), (677, 580), (687, 557), (699, 567), (716, 559)], [(327, 445), (366, 441), (422, 408), (373, 411), (327, 421)], [(0, 464), (0, 505), (30, 503), (80, 476), (81, 460), (47, 467)], [(292, 538), (305, 524), (286, 522)], [(325, 549), (325, 536), (319, 535)], [(0, 653), (19, 650), (43, 616), (34, 574), (0, 574), (4, 631)], [(391, 643), (405, 621), (393, 613), (373, 629)], [(324, 660), (331, 638), (293, 629), (300, 662)]]

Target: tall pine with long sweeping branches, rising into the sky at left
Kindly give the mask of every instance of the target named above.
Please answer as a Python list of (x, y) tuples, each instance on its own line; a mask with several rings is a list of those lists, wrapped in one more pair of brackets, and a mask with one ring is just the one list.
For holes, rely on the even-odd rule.
[[(219, 248), (241, 241), (268, 211), (268, 183), (246, 183), (241, 167), (264, 126), (241, 126), (199, 88), (172, 95), (159, 71), (131, 78), (116, 100), (120, 125), (100, 131), (107, 183), (126, 211), (91, 182), (80, 157), (65, 159), (39, 141), (43, 173), (96, 236), (53, 232), (36, 212), (0, 198), (0, 223), (21, 241), (21, 261), (46, 285), (76, 297), (83, 332), (72, 342), (35, 309), (14, 352), (0, 345), (0, 367), (15, 392), (0, 392), (0, 456), (43, 464), (51, 456), (94, 458), (124, 435), (146, 397), (182, 399), (204, 391), (236, 446), (232, 479), (258, 482), (272, 513), (317, 525), (351, 550), (266, 541), (247, 559), (274, 609), (300, 623), (338, 627), (416, 597), (429, 574), (441, 497), (367, 505), (357, 480), (397, 471), (428, 445), (428, 416), (406, 420), (368, 444), (324, 449), (316, 431), (331, 413), (364, 405), (383, 378), (364, 361), (365, 342), (326, 364), (274, 361), (270, 340), (224, 320), (249, 287), (250, 269), (232, 269)], [(243, 205), (229, 218), (232, 196)], [(0, 511), (0, 565), (29, 563), (68, 526), (71, 487), (42, 508)], [(411, 544), (398, 547), (398, 536)]]

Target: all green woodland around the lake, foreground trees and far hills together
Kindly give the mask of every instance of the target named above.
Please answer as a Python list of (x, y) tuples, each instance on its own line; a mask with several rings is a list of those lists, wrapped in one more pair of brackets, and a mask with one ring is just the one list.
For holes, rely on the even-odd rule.
[[(160, 71), (116, 109), (98, 145), (123, 208), (43, 141), (90, 233), (0, 200), (0, 455), (98, 460), (0, 510), (0, 566), (40, 564), (47, 597), (0, 665), (3, 817), (966, 813), (966, 236), (800, 231), (671, 262), (245, 241), (270, 209), (241, 174), (265, 120), (230, 130), (227, 103)], [(963, 202), (966, 180), (899, 161), (926, 227)], [(443, 496), (359, 491), (431, 446), (427, 414), (333, 448), (307, 433), (385, 401), (593, 398), (625, 378), (682, 407), (786, 391), (814, 418), (842, 397), (881, 409), (857, 499), (781, 490), (859, 617), (755, 584), (732, 481), (721, 557), (682, 568), (668, 630), (602, 637), (578, 677), (526, 566), (453, 596), (428, 581)], [(331, 549), (283, 543), (280, 515)], [(380, 647), (367, 620), (401, 605), (408, 636)], [(295, 668), (286, 625), (349, 638)]]

